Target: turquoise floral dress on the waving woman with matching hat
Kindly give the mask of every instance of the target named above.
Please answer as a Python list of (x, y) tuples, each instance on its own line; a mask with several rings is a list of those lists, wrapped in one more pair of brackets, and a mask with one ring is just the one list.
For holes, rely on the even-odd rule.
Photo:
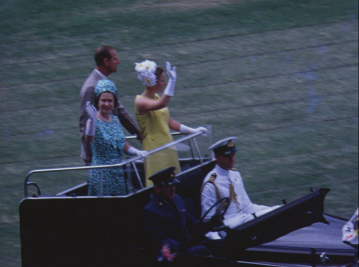
[[(91, 143), (91, 165), (115, 164), (122, 161), (126, 136), (123, 133), (118, 117), (112, 116), (112, 122), (104, 122), (96, 118), (95, 138)], [(100, 171), (102, 170), (102, 194), (124, 195), (126, 185), (123, 168), (90, 169), (88, 179), (88, 195), (100, 195)]]

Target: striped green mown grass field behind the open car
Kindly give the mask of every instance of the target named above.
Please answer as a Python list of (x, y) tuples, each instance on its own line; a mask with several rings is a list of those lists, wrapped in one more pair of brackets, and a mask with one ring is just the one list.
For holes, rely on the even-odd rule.
[[(134, 63), (177, 65), (171, 116), (237, 136), (251, 199), (330, 187), (325, 211), (358, 207), (358, 1), (2, 0), (0, 265), (20, 266), (18, 204), (28, 171), (80, 166), (79, 91), (101, 44), (134, 115)], [(33, 177), (50, 193), (86, 173)]]

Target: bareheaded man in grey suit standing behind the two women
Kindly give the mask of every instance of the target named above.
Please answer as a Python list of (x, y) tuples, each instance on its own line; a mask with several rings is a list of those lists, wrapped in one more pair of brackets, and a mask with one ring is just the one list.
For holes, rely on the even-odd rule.
[[(96, 67), (87, 77), (80, 91), (80, 133), (81, 133), (81, 158), (86, 165), (91, 164), (92, 151), (89, 143), (84, 140), (85, 127), (87, 121), (86, 102), (94, 102), (94, 90), (98, 80), (106, 79), (107, 76), (117, 71), (117, 65), (120, 60), (117, 58), (116, 50), (111, 46), (102, 45), (95, 52)], [(112, 114), (118, 116), (122, 126), (124, 126), (131, 134), (136, 134), (137, 139), (142, 141), (142, 135), (137, 123), (132, 119), (126, 108), (118, 103), (112, 109)]]

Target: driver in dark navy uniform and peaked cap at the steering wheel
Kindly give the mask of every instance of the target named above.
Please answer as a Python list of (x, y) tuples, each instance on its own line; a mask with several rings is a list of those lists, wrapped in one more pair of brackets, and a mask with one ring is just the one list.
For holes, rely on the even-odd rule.
[[(174, 170), (175, 167), (168, 167), (149, 177), (155, 194), (151, 195), (150, 202), (143, 209), (142, 225), (151, 247), (162, 247), (162, 250), (165, 247), (171, 253), (218, 255), (223, 243), (197, 234), (199, 220), (187, 212), (183, 199), (175, 193), (175, 184), (179, 180), (175, 178)], [(211, 229), (211, 224), (202, 224), (201, 229)]]

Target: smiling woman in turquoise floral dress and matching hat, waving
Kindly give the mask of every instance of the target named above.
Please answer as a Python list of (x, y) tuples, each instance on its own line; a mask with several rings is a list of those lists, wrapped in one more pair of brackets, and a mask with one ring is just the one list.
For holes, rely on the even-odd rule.
[[(116, 95), (115, 84), (109, 79), (102, 79), (95, 86), (94, 104), (98, 110), (90, 102), (86, 103), (89, 119), (86, 122), (85, 141), (91, 144), (93, 166), (119, 163), (123, 153), (142, 158), (148, 156), (147, 151), (138, 150), (126, 142), (118, 117), (110, 114), (113, 105), (117, 105)], [(126, 187), (122, 167), (90, 169), (88, 195), (124, 195), (127, 193)]]

